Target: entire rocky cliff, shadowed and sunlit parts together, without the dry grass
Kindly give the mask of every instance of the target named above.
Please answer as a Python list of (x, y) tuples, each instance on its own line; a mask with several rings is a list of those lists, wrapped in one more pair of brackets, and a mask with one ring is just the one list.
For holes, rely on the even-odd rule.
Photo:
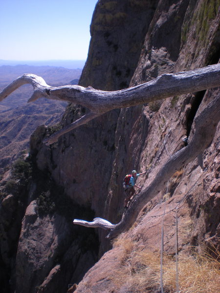
[[(218, 63), (219, 7), (219, 1), (208, 0), (99, 0), (80, 84), (116, 90), (165, 72)], [(164, 208), (168, 212), (164, 217), (164, 250), (175, 253), (172, 210), (178, 204), (179, 252), (189, 255), (191, 246), (195, 251), (219, 248), (219, 127), (212, 144), (164, 184), (113, 249), (105, 231), (71, 224), (73, 218), (92, 220), (94, 216), (112, 223), (120, 221), (125, 174), (147, 169), (138, 185), (148, 186), (170, 156), (184, 147), (183, 139), (190, 140), (194, 118), (217, 95), (219, 89), (212, 89), (113, 110), (65, 134), (52, 146), (42, 143), (52, 129), (39, 127), (31, 137), (32, 179), (16, 216), (21, 226), (16, 231), (21, 232), (12, 239), (13, 230), (8, 225), (12, 219), (1, 220), (5, 240), (0, 263), (8, 290), (4, 292), (16, 289), (16, 293), (31, 293), (36, 288), (37, 292), (66, 292), (68, 284), (78, 283), (98, 255), (107, 250), (75, 292), (160, 292), (158, 285), (145, 285), (137, 291), (136, 283), (127, 276), (140, 271), (141, 263), (137, 269), (137, 258), (132, 258), (137, 257), (136, 251), (147, 249), (156, 255), (160, 250)], [(86, 111), (79, 105), (68, 105), (59, 127)], [(18, 210), (19, 196), (4, 195), (1, 209)], [(16, 243), (18, 249), (13, 247)], [(172, 290), (169, 287), (167, 292)]]

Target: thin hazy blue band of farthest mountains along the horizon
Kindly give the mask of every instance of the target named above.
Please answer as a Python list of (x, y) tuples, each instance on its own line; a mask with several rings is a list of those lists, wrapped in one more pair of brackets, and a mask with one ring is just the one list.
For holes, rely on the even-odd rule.
[(30, 65), (30, 66), (55, 66), (65, 67), (68, 69), (83, 68), (86, 60), (42, 60), (42, 61), (19, 61), (19, 60), (1, 60), (0, 66), (2, 65)]

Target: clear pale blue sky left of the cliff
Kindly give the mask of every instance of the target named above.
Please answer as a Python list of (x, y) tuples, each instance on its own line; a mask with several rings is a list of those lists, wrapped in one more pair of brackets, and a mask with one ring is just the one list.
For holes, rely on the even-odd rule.
[(86, 60), (97, 0), (0, 0), (0, 59)]

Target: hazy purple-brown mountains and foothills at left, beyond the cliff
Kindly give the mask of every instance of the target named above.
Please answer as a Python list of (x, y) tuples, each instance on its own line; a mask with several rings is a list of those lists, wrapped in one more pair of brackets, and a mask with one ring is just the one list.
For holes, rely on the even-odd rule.
[[(33, 65), (0, 66), (0, 91), (24, 73), (44, 78), (51, 86), (78, 84), (82, 69)], [(28, 148), (29, 137), (39, 125), (58, 123), (66, 102), (40, 98), (27, 104), (33, 88), (25, 84), (0, 102), (0, 169), (17, 159)], [(3, 171), (3, 169), (2, 169)]]

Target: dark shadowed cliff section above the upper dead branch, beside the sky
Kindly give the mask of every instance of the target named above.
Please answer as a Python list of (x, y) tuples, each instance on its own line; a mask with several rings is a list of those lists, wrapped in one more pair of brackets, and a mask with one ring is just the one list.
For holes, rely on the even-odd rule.
[(88, 59), (79, 84), (103, 90), (129, 86), (157, 3), (97, 2), (90, 25)]

